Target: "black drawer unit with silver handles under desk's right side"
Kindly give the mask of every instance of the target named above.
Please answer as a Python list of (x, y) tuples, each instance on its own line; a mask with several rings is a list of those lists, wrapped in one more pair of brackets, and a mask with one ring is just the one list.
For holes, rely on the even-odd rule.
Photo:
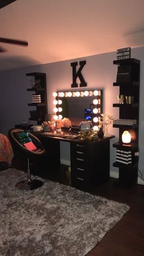
[(109, 141), (71, 142), (71, 186), (89, 191), (109, 179)]

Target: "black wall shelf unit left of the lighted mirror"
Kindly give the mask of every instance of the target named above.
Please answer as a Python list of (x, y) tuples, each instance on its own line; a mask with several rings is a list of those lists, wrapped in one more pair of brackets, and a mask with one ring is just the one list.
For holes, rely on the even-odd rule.
[(27, 73), (26, 76), (34, 79), (34, 86), (27, 88), (27, 92), (34, 92), (35, 95), (41, 97), (41, 103), (28, 103), (28, 106), (35, 106), (36, 108), (35, 111), (30, 111), (31, 117), (29, 120), (37, 121), (37, 124), (40, 125), (45, 121), (45, 114), (48, 114), (46, 73)]

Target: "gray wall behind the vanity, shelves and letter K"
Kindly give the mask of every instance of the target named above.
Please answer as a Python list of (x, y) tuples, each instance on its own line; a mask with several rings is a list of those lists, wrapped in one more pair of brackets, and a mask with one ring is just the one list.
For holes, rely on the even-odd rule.
[[(141, 60), (140, 69), (140, 123), (139, 123), (139, 147), (140, 161), (139, 169), (144, 169), (144, 137), (142, 136), (144, 126), (144, 47), (131, 49), (131, 57)], [(0, 101), (0, 133), (7, 134), (7, 131), (21, 123), (23, 120), (29, 119), (29, 110), (27, 103), (31, 102), (31, 93), (27, 92), (29, 88), (29, 77), (26, 73), (45, 72), (47, 79), (48, 93), (48, 112), (53, 114), (54, 100), (52, 92), (56, 90), (69, 90), (72, 83), (71, 62), (86, 60), (87, 64), (82, 70), (82, 74), (87, 82), (87, 89), (103, 89), (103, 113), (112, 114), (115, 119), (119, 117), (119, 109), (113, 108), (112, 104), (117, 103), (117, 94), (119, 87), (113, 87), (113, 82), (117, 78), (117, 66), (113, 65), (113, 60), (117, 59), (116, 52), (98, 54), (95, 56), (82, 57), (81, 59), (65, 60), (51, 64), (36, 65), (33, 67), (20, 68), (15, 70), (7, 70), (0, 72), (1, 81), (1, 101)], [(118, 129), (109, 127), (109, 133), (115, 135), (115, 139), (110, 141), (110, 170), (117, 173), (118, 169), (112, 166), (115, 161), (115, 148), (112, 147), (113, 142), (118, 141)], [(68, 161), (70, 152), (68, 152), (65, 144), (61, 145), (62, 161)], [(64, 159), (65, 158), (65, 159)], [(143, 171), (144, 175), (144, 171)]]

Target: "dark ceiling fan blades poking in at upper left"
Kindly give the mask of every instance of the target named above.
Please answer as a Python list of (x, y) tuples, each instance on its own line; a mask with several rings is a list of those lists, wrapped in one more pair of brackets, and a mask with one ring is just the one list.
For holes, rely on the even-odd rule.
[[(1, 0), (0, 2), (0, 9), (5, 7), (6, 5), (11, 4), (12, 2), (15, 2), (16, 0)], [(0, 37), (0, 43), (11, 43), (13, 45), (21, 45), (21, 46), (28, 46), (28, 43), (26, 41), (22, 40), (15, 40), (10, 38), (2, 38)], [(5, 53), (7, 49), (0, 46), (0, 53)]]

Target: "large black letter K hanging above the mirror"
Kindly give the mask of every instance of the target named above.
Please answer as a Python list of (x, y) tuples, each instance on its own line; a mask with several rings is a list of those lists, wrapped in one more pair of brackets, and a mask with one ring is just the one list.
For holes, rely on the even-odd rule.
[(82, 68), (84, 68), (84, 65), (86, 64), (86, 60), (82, 60), (79, 62), (79, 69), (76, 71), (76, 66), (77, 66), (77, 62), (72, 62), (71, 63), (71, 67), (73, 68), (73, 84), (71, 84), (71, 87), (78, 87), (78, 84), (76, 82), (76, 79), (79, 78), (80, 80), (80, 87), (85, 87), (87, 86), (87, 82), (85, 82), (84, 77), (82, 76)]

